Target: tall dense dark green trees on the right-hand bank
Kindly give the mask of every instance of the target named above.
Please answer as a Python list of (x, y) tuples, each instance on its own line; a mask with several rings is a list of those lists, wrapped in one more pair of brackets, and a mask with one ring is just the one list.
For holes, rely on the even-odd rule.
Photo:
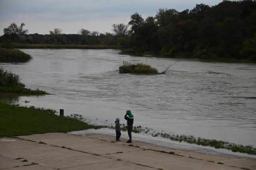
[(127, 47), (170, 57), (256, 61), (256, 1), (224, 0), (178, 12), (159, 9), (155, 17), (131, 16)]

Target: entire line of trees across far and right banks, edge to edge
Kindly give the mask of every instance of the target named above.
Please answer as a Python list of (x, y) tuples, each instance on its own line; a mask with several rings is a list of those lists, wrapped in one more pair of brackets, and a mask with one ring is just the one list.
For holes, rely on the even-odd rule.
[(196, 4), (192, 10), (159, 9), (144, 19), (136, 12), (128, 25), (112, 25), (113, 33), (80, 29), (62, 34), (29, 34), (22, 23), (4, 29), (0, 41), (19, 43), (119, 45), (124, 52), (168, 57), (256, 61), (256, 0), (223, 0), (215, 6)]

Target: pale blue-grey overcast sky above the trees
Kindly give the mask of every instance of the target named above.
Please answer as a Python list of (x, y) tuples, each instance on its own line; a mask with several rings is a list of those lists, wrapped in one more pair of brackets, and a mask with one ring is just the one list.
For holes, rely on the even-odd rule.
[(15, 22), (24, 22), (29, 34), (49, 34), (54, 28), (76, 34), (81, 28), (113, 33), (114, 23), (128, 24), (135, 12), (146, 19), (159, 8), (178, 12), (192, 10), (196, 4), (214, 6), (222, 0), (0, 0), (0, 35)]

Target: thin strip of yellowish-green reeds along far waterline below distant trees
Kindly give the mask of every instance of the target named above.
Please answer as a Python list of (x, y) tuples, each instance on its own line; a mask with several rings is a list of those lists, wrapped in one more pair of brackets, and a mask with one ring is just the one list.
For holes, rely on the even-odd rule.
[(15, 49), (119, 49), (118, 45), (60, 45), (60, 44), (18, 44)]

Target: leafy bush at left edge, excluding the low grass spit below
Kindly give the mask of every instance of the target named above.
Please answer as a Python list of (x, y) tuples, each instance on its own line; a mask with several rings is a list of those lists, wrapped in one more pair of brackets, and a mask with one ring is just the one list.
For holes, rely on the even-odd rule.
[(4, 71), (3, 68), (0, 68), (0, 87), (14, 86), (24, 87), (25, 85), (20, 82), (19, 75), (13, 74), (11, 71)]

